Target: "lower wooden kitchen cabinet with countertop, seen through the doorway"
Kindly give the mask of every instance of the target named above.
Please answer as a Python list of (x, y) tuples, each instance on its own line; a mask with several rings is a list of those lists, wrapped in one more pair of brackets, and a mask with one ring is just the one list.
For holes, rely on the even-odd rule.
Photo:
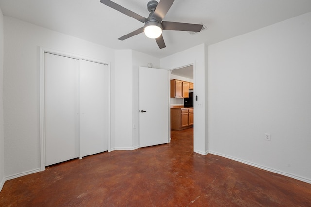
[(171, 129), (182, 130), (193, 126), (193, 108), (171, 108)]

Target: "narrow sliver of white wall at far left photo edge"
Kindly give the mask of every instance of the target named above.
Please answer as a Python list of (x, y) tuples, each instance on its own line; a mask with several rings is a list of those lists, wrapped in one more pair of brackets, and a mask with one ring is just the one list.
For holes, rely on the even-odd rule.
[(4, 133), (3, 133), (3, 14), (0, 8), (0, 191), (4, 184)]

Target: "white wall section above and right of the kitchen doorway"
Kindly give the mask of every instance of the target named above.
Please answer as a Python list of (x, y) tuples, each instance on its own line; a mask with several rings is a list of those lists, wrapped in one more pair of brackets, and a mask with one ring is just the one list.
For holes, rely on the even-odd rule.
[[(193, 64), (194, 73), (194, 96), (198, 96), (198, 101), (194, 101), (194, 152), (206, 155), (208, 153), (208, 135), (205, 133), (205, 117), (207, 116), (207, 103), (205, 96), (205, 44), (201, 44), (188, 50), (178, 52), (161, 59), (162, 69), (176, 69), (182, 66)], [(203, 107), (198, 107), (198, 103)]]

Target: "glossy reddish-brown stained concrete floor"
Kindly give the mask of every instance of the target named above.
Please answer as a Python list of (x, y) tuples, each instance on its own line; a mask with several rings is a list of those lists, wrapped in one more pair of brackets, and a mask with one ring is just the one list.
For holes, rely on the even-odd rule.
[(0, 207), (311, 206), (311, 184), (193, 153), (193, 129), (170, 144), (113, 151), (6, 181)]

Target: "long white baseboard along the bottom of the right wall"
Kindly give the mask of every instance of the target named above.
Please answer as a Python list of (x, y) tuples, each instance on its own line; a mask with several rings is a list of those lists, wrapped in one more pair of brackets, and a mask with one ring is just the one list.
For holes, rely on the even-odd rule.
[(286, 177), (291, 177), (291, 178), (294, 178), (296, 180), (300, 180), (300, 181), (303, 181), (303, 182), (311, 184), (311, 180), (307, 179), (307, 178), (304, 178), (304, 177), (299, 177), (299, 176), (294, 175), (294, 174), (278, 171), (278, 170), (275, 170), (275, 169), (272, 169), (272, 168), (268, 168), (268, 167), (265, 167), (265, 166), (262, 166), (262, 165), (258, 165), (258, 164), (252, 163), (252, 162), (248, 162), (248, 161), (245, 161), (245, 160), (242, 160), (242, 159), (238, 159), (238, 158), (235, 158), (235, 157), (232, 157), (232, 156), (223, 155), (221, 153), (216, 153), (216, 152), (213, 152), (213, 151), (209, 151), (209, 153), (213, 154), (213, 155), (222, 156), (222, 157), (234, 160), (234, 161), (242, 162), (242, 163), (244, 163), (246, 165), (250, 165), (250, 166), (253, 166), (253, 167), (256, 167), (256, 168), (260, 168), (260, 169), (263, 169), (263, 170), (266, 170), (266, 171), (270, 171), (272, 173), (281, 174), (281, 175), (284, 175)]

